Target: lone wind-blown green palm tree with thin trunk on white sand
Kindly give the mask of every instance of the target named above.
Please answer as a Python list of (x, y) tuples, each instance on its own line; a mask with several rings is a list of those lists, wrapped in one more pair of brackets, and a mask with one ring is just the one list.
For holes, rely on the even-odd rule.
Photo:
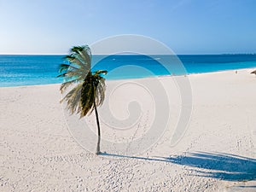
[(102, 74), (107, 71), (91, 72), (91, 52), (89, 46), (76, 46), (70, 49), (70, 55), (65, 56), (69, 64), (60, 65), (60, 75), (65, 82), (61, 84), (61, 93), (67, 87), (75, 85), (69, 90), (61, 102), (67, 102), (67, 109), (73, 113), (80, 113), (80, 118), (95, 110), (98, 132), (96, 154), (100, 154), (101, 128), (97, 107), (102, 105), (105, 97), (105, 79)]

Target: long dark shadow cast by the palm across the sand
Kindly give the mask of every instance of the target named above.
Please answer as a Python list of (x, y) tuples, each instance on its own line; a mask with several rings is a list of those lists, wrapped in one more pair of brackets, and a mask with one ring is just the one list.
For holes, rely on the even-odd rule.
[[(196, 167), (197, 176), (214, 177), (227, 181), (256, 180), (256, 160), (236, 154), (196, 152), (171, 157), (136, 157), (119, 154), (101, 154), (137, 160), (169, 162), (182, 166)], [(256, 186), (253, 186), (256, 187)]]

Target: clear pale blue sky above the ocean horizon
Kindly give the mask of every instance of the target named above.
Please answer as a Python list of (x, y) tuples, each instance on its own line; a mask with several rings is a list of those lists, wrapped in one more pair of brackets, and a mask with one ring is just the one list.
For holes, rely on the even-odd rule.
[(0, 54), (139, 34), (177, 54), (256, 53), (254, 0), (0, 0)]

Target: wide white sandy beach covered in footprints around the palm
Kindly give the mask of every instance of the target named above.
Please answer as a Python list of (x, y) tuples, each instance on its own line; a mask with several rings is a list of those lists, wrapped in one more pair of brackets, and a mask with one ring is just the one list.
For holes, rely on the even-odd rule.
[[(63, 112), (59, 84), (0, 88), (0, 191), (255, 191), (256, 77), (251, 71), (179, 77), (191, 84), (192, 111), (174, 145), (184, 106), (172, 78), (157, 79), (165, 85), (162, 100), (147, 94), (153, 79), (108, 81), (107, 100), (99, 109), (106, 153), (99, 156), (93, 153), (96, 136), (78, 127), (87, 123), (96, 132), (94, 113), (76, 124)], [(126, 103), (134, 101), (141, 113)], [(153, 132), (156, 140), (146, 134), (151, 129), (161, 131), (160, 136)]]

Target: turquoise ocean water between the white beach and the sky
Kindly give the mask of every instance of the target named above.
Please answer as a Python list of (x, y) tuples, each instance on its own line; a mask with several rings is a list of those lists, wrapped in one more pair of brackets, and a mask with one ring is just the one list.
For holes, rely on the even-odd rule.
[[(108, 70), (106, 79), (134, 79), (160, 75), (210, 73), (256, 67), (256, 55), (177, 55), (185, 70), (166, 55), (110, 55), (100, 57), (93, 69)], [(97, 59), (96, 59), (97, 60)], [(94, 59), (93, 59), (94, 61)], [(56, 79), (63, 55), (0, 55), (0, 87), (58, 84)], [(163, 67), (162, 63), (172, 67)]]

